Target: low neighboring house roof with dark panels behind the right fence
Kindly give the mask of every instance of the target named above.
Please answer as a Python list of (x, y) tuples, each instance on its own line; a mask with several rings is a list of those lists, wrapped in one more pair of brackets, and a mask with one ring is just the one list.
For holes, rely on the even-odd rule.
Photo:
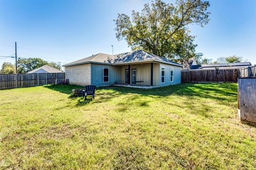
[(221, 63), (221, 64), (202, 64), (197, 65), (193, 64), (191, 65), (189, 70), (197, 70), (197, 69), (204, 69), (204, 70), (215, 70), (215, 69), (242, 69), (244, 67), (252, 66), (250, 62), (242, 62), (242, 63)]

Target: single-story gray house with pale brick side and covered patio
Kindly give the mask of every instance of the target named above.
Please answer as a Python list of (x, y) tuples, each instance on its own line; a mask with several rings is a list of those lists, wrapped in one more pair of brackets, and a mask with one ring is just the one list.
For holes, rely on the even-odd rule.
[(181, 83), (182, 65), (143, 50), (117, 55), (99, 53), (63, 66), (69, 83), (81, 86), (153, 88)]

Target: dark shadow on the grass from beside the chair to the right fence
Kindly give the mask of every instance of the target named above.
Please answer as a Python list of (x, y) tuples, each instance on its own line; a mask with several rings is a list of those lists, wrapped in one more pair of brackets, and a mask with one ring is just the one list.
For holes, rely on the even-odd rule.
[(165, 86), (154, 89), (137, 89), (129, 87), (102, 87), (102, 90), (114, 90), (122, 94), (137, 94), (133, 99), (141, 96), (150, 96), (155, 99), (164, 98), (170, 95), (185, 97), (210, 98), (226, 102), (236, 101), (237, 84), (236, 83), (181, 83), (173, 86)]

